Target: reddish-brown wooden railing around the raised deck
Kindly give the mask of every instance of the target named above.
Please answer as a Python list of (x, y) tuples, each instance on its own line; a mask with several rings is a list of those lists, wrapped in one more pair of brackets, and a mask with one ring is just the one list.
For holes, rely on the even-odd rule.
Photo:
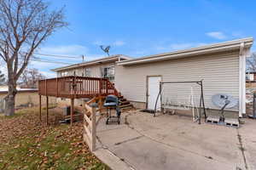
[(118, 91), (106, 78), (56, 77), (38, 81), (38, 94), (79, 99), (108, 94), (118, 95)]

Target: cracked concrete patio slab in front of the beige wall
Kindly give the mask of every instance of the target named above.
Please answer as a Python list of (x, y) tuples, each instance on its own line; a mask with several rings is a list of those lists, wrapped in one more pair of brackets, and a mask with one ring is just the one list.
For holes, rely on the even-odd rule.
[(113, 170), (256, 169), (256, 120), (236, 129), (131, 111), (97, 127), (95, 155)]

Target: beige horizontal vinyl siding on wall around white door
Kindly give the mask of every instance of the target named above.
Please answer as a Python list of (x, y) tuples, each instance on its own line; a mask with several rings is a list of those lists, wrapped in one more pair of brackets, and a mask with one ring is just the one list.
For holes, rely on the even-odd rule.
[[(205, 104), (212, 105), (213, 94), (231, 94), (239, 99), (239, 51), (172, 59), (142, 65), (116, 66), (115, 85), (126, 99), (146, 102), (147, 76), (160, 75), (167, 81), (198, 81), (203, 79)], [(167, 85), (165, 94), (180, 101), (189, 101), (192, 84)], [(195, 86), (195, 85), (193, 85)], [(199, 89), (194, 88), (194, 94)], [(196, 99), (195, 99), (196, 100)], [(238, 107), (232, 109), (238, 111)]]

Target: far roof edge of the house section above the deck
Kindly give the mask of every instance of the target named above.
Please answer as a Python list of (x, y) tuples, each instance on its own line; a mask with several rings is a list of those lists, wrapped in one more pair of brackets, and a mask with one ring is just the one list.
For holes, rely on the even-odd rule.
[(79, 64), (67, 65), (67, 66), (55, 68), (55, 69), (52, 69), (51, 71), (65, 71), (65, 70), (69, 70), (69, 69), (78, 68), (81, 66), (96, 65), (96, 64), (102, 64), (102, 63), (108, 63), (111, 61), (113, 61), (113, 62), (120, 61), (123, 59), (131, 59), (131, 57), (125, 56), (123, 54), (110, 55), (108, 57), (103, 57), (101, 59), (93, 59), (93, 60), (82, 62)]

